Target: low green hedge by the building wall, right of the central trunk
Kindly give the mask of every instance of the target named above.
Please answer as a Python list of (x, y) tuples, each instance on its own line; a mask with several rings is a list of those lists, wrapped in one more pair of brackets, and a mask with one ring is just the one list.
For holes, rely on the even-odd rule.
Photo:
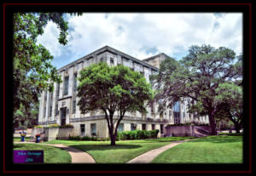
[(133, 130), (133, 131), (124, 131), (118, 133), (119, 140), (134, 140), (134, 139), (154, 139), (157, 138), (159, 130)]

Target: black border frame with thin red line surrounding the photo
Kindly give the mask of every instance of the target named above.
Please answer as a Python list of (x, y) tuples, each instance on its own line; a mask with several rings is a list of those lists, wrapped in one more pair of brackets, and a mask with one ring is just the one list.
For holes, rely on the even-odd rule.
[[(78, 10), (79, 9), (79, 10)], [(143, 9), (143, 10), (142, 10)], [(238, 12), (243, 13), (244, 130), (243, 164), (13, 164), (12, 14), (15, 11), (86, 12)], [(3, 3), (3, 173), (252, 173), (252, 3)], [(7, 99), (8, 98), (8, 99)], [(9, 142), (11, 141), (11, 143)], [(83, 170), (84, 167), (90, 170)], [(170, 167), (171, 166), (171, 167)], [(155, 169), (156, 168), (156, 169)], [(49, 170), (47, 170), (49, 169)]]

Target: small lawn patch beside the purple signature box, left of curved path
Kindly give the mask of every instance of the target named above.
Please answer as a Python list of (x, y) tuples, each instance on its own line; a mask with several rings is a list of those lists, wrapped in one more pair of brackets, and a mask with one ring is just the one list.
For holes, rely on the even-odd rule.
[(71, 163), (71, 156), (66, 150), (39, 144), (15, 144), (14, 150), (44, 150), (44, 163)]

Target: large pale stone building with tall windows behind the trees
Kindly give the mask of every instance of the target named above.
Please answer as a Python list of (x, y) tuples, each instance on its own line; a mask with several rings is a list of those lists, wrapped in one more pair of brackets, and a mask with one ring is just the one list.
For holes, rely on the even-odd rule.
[[(133, 71), (139, 71), (149, 82), (149, 76), (157, 74), (160, 62), (168, 57), (166, 54), (157, 54), (145, 60), (137, 60), (117, 49), (105, 46), (79, 60), (61, 67), (58, 73), (62, 82), (55, 83), (54, 91), (44, 91), (40, 98), (38, 123), (45, 127), (49, 124), (73, 125), (73, 135), (108, 137), (108, 125), (101, 111), (92, 111), (81, 114), (79, 111), (79, 97), (77, 96), (77, 77), (79, 71), (94, 63), (107, 62), (108, 65), (125, 65)], [(164, 135), (164, 128), (168, 124), (197, 122), (208, 123), (207, 116), (194, 117), (188, 112), (191, 99), (180, 99), (172, 108), (158, 111), (158, 103), (147, 107), (148, 113), (125, 113), (119, 124), (119, 131), (135, 129), (159, 129)]]

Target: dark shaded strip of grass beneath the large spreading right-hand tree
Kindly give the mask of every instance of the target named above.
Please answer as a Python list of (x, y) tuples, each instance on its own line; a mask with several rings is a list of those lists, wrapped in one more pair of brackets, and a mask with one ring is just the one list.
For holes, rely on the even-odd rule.
[(191, 140), (189, 142), (233, 143), (241, 141), (241, 136), (207, 136), (200, 139)]

